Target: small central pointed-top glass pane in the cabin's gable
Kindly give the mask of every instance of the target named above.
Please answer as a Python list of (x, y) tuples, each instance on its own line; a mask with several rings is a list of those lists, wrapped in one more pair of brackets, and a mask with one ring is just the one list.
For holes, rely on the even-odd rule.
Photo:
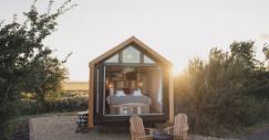
[(139, 63), (141, 62), (141, 52), (134, 46), (128, 46), (123, 50), (123, 63)]

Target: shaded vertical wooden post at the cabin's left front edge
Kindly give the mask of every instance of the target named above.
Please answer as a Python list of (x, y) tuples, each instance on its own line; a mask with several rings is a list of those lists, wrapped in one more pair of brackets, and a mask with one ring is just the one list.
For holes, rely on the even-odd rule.
[(89, 128), (93, 128), (93, 94), (94, 94), (94, 66), (90, 65), (89, 78)]

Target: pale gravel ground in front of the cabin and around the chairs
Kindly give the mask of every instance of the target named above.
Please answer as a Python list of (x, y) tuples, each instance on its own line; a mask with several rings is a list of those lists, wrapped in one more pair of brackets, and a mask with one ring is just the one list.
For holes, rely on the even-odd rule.
[[(130, 140), (128, 133), (90, 130), (75, 133), (75, 116), (39, 117), (30, 119), (30, 140)], [(234, 140), (190, 136), (190, 140)]]

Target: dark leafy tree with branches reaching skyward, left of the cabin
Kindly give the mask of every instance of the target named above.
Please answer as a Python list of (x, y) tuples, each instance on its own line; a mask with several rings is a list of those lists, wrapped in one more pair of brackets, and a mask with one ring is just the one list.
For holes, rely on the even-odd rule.
[[(53, 1), (49, 2), (45, 13), (38, 12), (35, 2), (30, 11), (24, 12), (24, 22), (0, 25), (0, 117), (8, 118), (20, 100), (22, 91), (34, 90), (41, 96), (59, 86), (66, 71), (61, 61), (52, 56), (52, 51), (43, 44), (43, 40), (55, 31), (56, 19), (75, 7), (71, 0), (64, 2), (51, 13)], [(42, 77), (39, 77), (42, 76)], [(30, 83), (32, 86), (29, 86)], [(52, 85), (55, 84), (55, 85)], [(44, 88), (38, 90), (39, 88)]]

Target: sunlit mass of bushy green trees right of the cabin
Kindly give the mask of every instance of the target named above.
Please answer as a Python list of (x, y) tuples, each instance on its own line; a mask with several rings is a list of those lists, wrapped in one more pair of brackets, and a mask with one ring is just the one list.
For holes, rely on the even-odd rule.
[(176, 111), (188, 115), (195, 133), (211, 136), (268, 120), (269, 73), (260, 63), (252, 41), (234, 42), (229, 52), (214, 47), (207, 61), (192, 60), (175, 80)]

